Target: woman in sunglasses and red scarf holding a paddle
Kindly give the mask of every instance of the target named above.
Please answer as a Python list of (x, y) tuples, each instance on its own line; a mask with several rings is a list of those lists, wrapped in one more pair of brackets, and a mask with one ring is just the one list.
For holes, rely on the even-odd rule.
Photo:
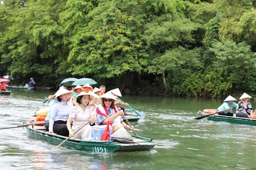
[(111, 94), (110, 91), (100, 96), (100, 98), (102, 98), (102, 104), (97, 107), (97, 118), (95, 124), (106, 125), (109, 121), (110, 125), (112, 126), (112, 133), (122, 128), (122, 126), (125, 129), (134, 130), (133, 127), (130, 128), (130, 126), (124, 123), (123, 118), (121, 117), (124, 115), (124, 112), (122, 110), (117, 111), (114, 104), (116, 98)]

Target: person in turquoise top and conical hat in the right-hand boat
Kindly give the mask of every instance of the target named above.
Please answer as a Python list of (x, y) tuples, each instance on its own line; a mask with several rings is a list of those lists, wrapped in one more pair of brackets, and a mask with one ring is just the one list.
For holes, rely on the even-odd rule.
[(219, 112), (218, 114), (223, 115), (223, 116), (233, 116), (232, 108), (237, 107), (237, 104), (234, 101), (236, 101), (236, 99), (229, 95), (224, 100), (223, 104), (217, 109), (217, 111), (222, 111), (222, 110), (226, 110), (226, 109), (228, 109), (228, 110)]

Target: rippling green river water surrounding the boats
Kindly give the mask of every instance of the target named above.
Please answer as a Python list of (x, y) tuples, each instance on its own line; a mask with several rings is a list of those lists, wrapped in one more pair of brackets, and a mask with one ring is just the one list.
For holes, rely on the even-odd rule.
[[(0, 128), (28, 121), (55, 91), (12, 90), (0, 95)], [(194, 120), (222, 100), (123, 96), (145, 120), (131, 122), (153, 139), (151, 151), (90, 154), (27, 136), (22, 128), (1, 130), (0, 169), (256, 169), (256, 126)], [(256, 104), (252, 102), (253, 109)], [(132, 112), (126, 108), (126, 112)], [(235, 110), (233, 110), (235, 112)], [(132, 132), (131, 132), (132, 134)]]

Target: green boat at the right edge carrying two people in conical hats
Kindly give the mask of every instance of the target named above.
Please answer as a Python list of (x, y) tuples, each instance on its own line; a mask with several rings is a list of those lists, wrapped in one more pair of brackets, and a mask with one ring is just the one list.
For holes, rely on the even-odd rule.
[[(205, 116), (207, 114), (208, 113), (198, 111), (198, 116)], [(229, 123), (256, 125), (256, 119), (253, 119), (253, 118), (211, 115), (211, 116), (204, 117), (204, 119), (211, 120), (211, 121), (225, 121), (225, 122), (229, 122)]]

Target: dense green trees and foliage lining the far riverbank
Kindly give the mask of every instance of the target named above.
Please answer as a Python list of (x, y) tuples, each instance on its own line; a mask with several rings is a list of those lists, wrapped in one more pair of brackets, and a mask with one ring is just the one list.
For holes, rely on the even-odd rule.
[(254, 0), (0, 1), (0, 75), (68, 77), (132, 93), (256, 91)]

